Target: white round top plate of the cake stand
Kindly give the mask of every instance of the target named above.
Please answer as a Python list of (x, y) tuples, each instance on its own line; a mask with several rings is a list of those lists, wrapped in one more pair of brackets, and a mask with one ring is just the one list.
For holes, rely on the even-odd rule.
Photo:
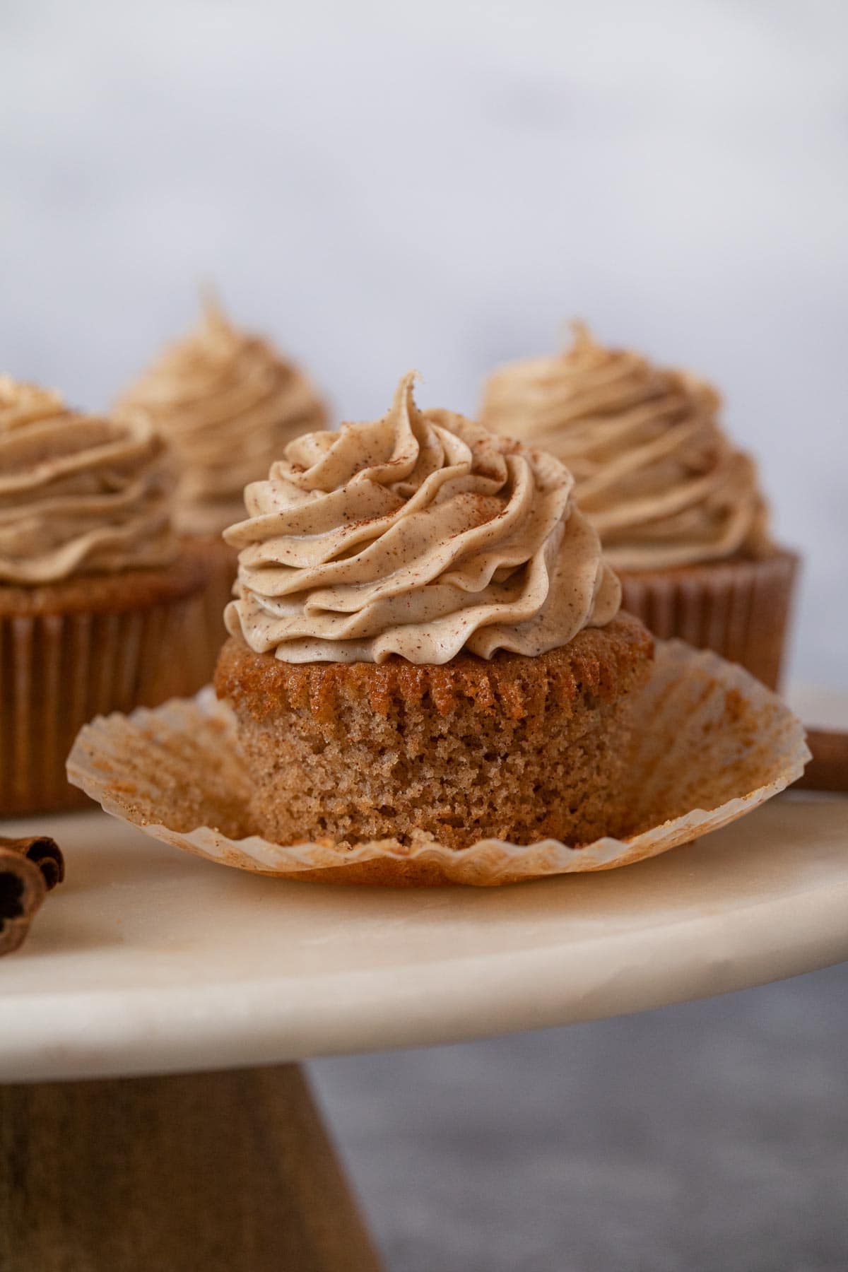
[(243, 874), (99, 810), (0, 962), (0, 1080), (276, 1063), (535, 1029), (848, 958), (848, 800), (787, 795), (698, 843), (502, 889)]

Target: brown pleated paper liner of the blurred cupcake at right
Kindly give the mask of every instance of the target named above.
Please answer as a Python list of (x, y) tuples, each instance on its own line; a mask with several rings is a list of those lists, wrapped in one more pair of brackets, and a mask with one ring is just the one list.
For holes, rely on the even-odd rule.
[(796, 553), (781, 550), (762, 561), (622, 571), (622, 608), (661, 640), (712, 649), (776, 689), (798, 563)]

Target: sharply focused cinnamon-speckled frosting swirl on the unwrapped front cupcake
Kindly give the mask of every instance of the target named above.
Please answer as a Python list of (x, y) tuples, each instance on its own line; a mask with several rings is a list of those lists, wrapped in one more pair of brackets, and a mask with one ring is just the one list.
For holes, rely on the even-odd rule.
[(287, 663), (537, 655), (618, 611), (618, 579), (552, 455), (449, 411), (390, 410), (286, 446), (244, 492), (230, 635)]

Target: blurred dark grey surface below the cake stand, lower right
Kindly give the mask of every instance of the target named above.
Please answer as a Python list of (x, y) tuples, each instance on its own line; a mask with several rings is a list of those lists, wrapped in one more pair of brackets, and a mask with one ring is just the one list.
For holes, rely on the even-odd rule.
[(845, 1272), (847, 1000), (843, 965), (311, 1070), (388, 1272)]

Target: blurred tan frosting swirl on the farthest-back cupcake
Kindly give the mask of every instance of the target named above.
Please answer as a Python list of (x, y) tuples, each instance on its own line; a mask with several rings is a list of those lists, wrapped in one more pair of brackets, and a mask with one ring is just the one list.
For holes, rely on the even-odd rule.
[(122, 404), (149, 411), (179, 467), (177, 528), (217, 536), (242, 511), (249, 481), (286, 443), (325, 424), (306, 377), (264, 340), (238, 331), (212, 301), (197, 329), (167, 349)]

